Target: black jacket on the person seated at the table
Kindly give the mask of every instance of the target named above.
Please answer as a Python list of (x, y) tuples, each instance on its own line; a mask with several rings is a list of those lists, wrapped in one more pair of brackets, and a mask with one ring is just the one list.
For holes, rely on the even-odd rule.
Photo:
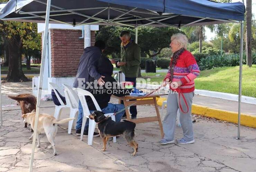
[[(110, 60), (107, 57), (101, 57), (98, 60), (97, 71), (101, 75), (105, 76), (103, 78), (103, 80), (105, 81), (105, 85), (100, 88), (99, 84), (97, 84), (97, 81), (94, 81), (94, 79), (90, 77), (89, 80), (91, 82), (91, 87), (86, 90), (88, 90), (93, 94), (93, 96), (95, 97), (101, 109), (108, 106), (108, 103), (110, 101), (110, 97), (112, 94), (118, 97), (122, 97), (130, 94), (131, 89), (121, 89), (118, 87), (113, 87), (113, 85), (117, 86), (117, 82), (111, 76), (113, 73), (113, 65), (111, 64)], [(93, 101), (89, 96), (86, 96), (86, 102), (90, 110), (96, 110), (93, 104)]]

